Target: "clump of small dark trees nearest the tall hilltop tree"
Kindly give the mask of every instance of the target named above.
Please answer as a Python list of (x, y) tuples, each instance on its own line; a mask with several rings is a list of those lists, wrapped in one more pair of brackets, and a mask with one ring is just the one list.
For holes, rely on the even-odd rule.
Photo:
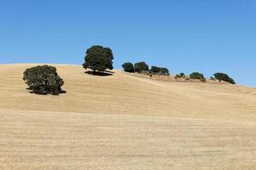
[(142, 61), (135, 63), (134, 65), (131, 62), (124, 63), (122, 65), (124, 68), (124, 71), (126, 72), (148, 72), (149, 74), (155, 74), (155, 75), (170, 75), (169, 70), (164, 67), (158, 67), (158, 66), (151, 66), (151, 68), (148, 68), (148, 65)]

